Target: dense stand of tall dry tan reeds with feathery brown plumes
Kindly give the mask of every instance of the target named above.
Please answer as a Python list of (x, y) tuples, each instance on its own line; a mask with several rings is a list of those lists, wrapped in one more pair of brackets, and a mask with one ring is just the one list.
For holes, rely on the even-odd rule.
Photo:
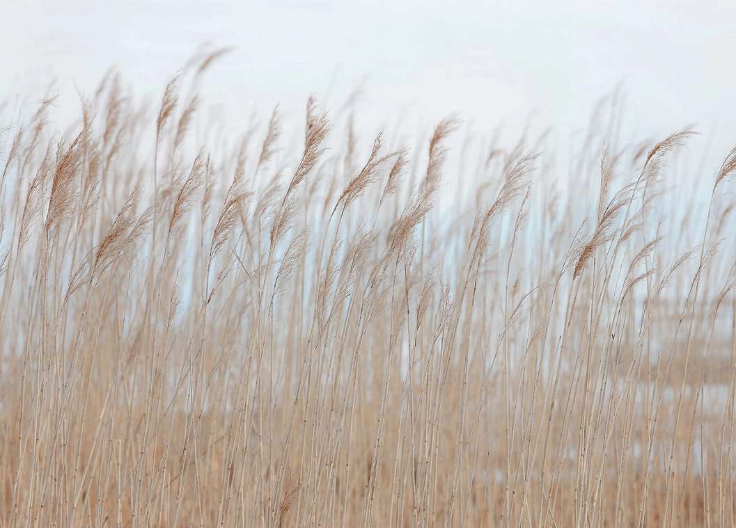
[(0, 526), (735, 525), (736, 151), (229, 137), (215, 59), (3, 136)]

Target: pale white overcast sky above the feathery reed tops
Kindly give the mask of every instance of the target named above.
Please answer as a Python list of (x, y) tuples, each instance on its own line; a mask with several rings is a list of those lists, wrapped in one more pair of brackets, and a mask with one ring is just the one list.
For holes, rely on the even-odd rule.
[(492, 129), (534, 111), (569, 132), (622, 84), (640, 135), (696, 124), (723, 155), (736, 141), (732, 1), (0, 5), (1, 99), (34, 101), (50, 79), (73, 97), (111, 65), (135, 90), (158, 97), (197, 45), (211, 41), (235, 49), (209, 72), (205, 95), (235, 118), (276, 102), (301, 108), (309, 93), (338, 97), (362, 83), (368, 120), (401, 112), (428, 124), (458, 113)]

